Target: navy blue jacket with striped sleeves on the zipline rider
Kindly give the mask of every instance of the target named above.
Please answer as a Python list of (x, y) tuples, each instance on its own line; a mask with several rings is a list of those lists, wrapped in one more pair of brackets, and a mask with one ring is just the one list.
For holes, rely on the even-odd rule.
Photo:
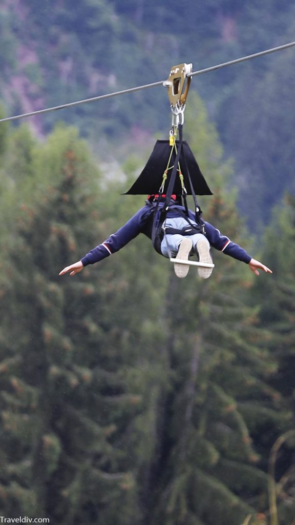
[[(160, 204), (160, 206), (162, 203)], [(177, 212), (177, 208), (184, 212), (183, 206), (173, 206), (169, 209), (167, 217), (179, 217), (180, 214)], [(195, 222), (194, 213), (189, 210), (189, 218)], [(211, 246), (217, 250), (224, 251), (226, 255), (230, 255), (235, 259), (246, 262), (250, 262), (251, 257), (247, 254), (244, 248), (241, 248), (238, 244), (232, 243), (231, 240), (225, 235), (220, 234), (219, 230), (204, 221), (205, 224), (205, 236), (207, 237)], [(113, 233), (108, 239), (99, 244), (96, 248), (93, 248), (81, 259), (83, 266), (94, 264), (109, 255), (120, 250), (123, 246), (127, 245), (130, 240), (137, 237), (140, 233), (145, 234), (150, 239), (152, 238), (152, 226), (153, 226), (153, 213), (152, 208), (149, 205), (143, 206), (133, 217), (131, 217), (122, 228), (118, 229), (118, 232)]]

